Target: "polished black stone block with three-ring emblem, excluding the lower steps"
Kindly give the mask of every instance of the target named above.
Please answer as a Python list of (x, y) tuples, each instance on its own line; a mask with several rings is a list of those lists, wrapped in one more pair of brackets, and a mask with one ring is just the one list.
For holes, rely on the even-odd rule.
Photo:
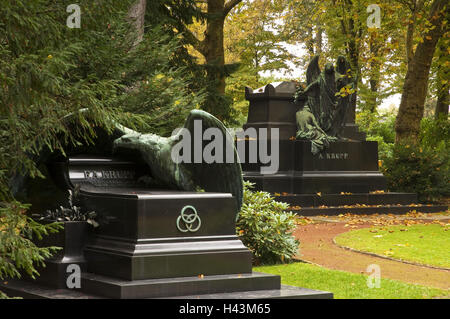
[(83, 207), (97, 213), (84, 248), (89, 272), (124, 280), (251, 272), (231, 194), (149, 188), (141, 180), (151, 169), (139, 159), (80, 155), (49, 167), (61, 187), (80, 185)]

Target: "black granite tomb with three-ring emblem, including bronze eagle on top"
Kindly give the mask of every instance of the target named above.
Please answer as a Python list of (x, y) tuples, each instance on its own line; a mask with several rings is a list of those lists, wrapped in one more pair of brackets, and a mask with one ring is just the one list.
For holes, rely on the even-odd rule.
[[(196, 120), (204, 130), (214, 127), (228, 134), (220, 121), (198, 110), (190, 113), (185, 128), (192, 131)], [(121, 125), (110, 135), (98, 135), (94, 151), (104, 147), (103, 154), (75, 148), (67, 156), (41, 158), (47, 184), (76, 191), (80, 205), (95, 211), (98, 227), (65, 232), (56, 243), (64, 249), (48, 261), (48, 271), (39, 269), (43, 276), (38, 281), (0, 283), (5, 293), (31, 298), (332, 298), (328, 292), (281, 285), (276, 275), (252, 272), (252, 254), (235, 229), (242, 204), (239, 161), (174, 162), (177, 135), (140, 134)], [(236, 152), (232, 139), (225, 141)], [(19, 182), (25, 187), (23, 179)], [(80, 286), (63, 289), (71, 264), (82, 270)]]

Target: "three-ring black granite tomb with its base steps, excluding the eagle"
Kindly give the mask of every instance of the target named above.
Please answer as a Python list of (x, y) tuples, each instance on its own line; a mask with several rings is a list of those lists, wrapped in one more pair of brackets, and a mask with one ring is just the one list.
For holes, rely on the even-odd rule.
[[(49, 172), (62, 189), (79, 185), (80, 201), (97, 213), (99, 227), (65, 233), (58, 241), (65, 249), (39, 281), (0, 283), (12, 296), (332, 298), (252, 272), (252, 254), (236, 236), (231, 194), (149, 189), (145, 165), (123, 158), (74, 156), (52, 161)], [(61, 290), (68, 263), (81, 263), (78, 291)]]

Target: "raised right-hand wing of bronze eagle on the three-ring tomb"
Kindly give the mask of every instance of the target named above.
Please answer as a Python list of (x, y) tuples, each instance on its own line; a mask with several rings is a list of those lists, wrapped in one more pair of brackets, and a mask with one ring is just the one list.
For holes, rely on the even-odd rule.
[[(205, 154), (194, 154), (192, 152), (190, 163), (181, 164), (183, 170), (188, 171), (194, 183), (205, 191), (231, 193), (235, 197), (238, 211), (240, 211), (243, 198), (242, 169), (234, 140), (227, 128), (216, 117), (201, 110), (192, 110), (184, 127), (190, 132), (191, 145), (194, 146), (194, 151), (195, 143), (199, 143), (199, 140), (202, 140), (201, 150), (206, 150), (205, 147), (208, 146), (205, 144), (210, 143), (214, 143), (217, 148), (214, 153), (215, 161), (209, 161), (209, 163), (206, 162), (208, 159), (204, 156), (201, 156), (201, 161), (198, 161), (199, 155)], [(214, 139), (213, 142), (211, 136), (210, 142), (203, 141), (202, 137), (198, 136), (198, 133), (201, 132), (203, 136), (208, 131), (210, 133), (215, 132), (216, 134), (213, 135), (218, 140)], [(221, 138), (219, 139), (218, 136), (221, 136)], [(220, 152), (220, 149), (222, 149), (222, 152)], [(194, 158), (195, 156), (197, 156), (197, 160)]]

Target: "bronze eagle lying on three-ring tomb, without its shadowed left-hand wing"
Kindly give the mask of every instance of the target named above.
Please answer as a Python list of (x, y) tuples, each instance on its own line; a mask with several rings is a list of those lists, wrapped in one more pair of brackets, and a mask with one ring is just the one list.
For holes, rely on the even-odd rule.
[[(172, 149), (180, 142), (181, 131), (170, 137), (161, 137), (156, 134), (141, 134), (121, 125), (116, 125), (116, 134), (120, 135), (114, 140), (115, 153), (134, 151), (138, 152), (152, 172), (152, 178), (158, 184), (186, 191), (204, 190), (208, 192), (231, 193), (237, 201), (238, 210), (242, 206), (243, 180), (241, 164), (234, 141), (227, 128), (213, 115), (202, 111), (192, 110), (184, 124), (184, 129), (195, 138), (194, 123), (202, 122), (202, 130), (217, 128), (224, 138), (225, 149), (233, 150), (233, 161), (225, 160), (215, 163), (195, 163), (174, 161)], [(203, 134), (203, 132), (202, 132)], [(193, 145), (193, 143), (191, 143)]]

